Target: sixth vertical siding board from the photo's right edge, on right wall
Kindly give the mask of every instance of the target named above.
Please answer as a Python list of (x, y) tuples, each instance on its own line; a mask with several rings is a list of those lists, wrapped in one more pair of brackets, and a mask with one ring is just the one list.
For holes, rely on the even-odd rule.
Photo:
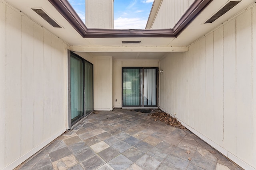
[(206, 38), (202, 38), (199, 42), (199, 131), (206, 135)]

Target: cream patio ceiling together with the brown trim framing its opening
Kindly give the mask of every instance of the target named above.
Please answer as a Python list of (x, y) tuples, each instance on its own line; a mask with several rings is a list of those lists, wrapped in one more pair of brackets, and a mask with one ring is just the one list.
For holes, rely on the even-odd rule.
[[(78, 18), (67, 0), (6, 0), (12, 6), (45, 27), (70, 50), (91, 53), (94, 56), (113, 56), (115, 59), (160, 59), (170, 52), (188, 51), (188, 46), (212, 29), (226, 22), (254, 3), (242, 0), (213, 23), (205, 23), (230, 0), (194, 0), (174, 28), (154, 30), (88, 29)], [(42, 9), (61, 28), (52, 27), (32, 8)], [(141, 41), (140, 44), (122, 44), (122, 41)], [(130, 54), (126, 54), (129, 52)]]

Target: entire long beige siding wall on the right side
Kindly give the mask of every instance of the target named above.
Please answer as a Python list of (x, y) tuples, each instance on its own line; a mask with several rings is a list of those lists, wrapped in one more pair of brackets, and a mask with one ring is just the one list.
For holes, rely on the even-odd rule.
[(256, 169), (255, 47), (256, 6), (160, 61), (160, 108), (245, 169)]

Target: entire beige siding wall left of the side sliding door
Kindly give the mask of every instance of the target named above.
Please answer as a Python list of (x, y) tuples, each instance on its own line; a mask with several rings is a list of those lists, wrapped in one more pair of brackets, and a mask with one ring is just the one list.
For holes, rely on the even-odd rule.
[(0, 169), (66, 130), (66, 44), (0, 1)]

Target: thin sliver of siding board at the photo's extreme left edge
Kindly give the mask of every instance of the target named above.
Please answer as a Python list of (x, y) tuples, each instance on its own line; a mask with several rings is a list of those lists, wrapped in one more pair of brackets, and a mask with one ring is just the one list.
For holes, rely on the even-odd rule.
[(4, 154), (5, 153), (5, 145), (4, 145), (4, 137), (5, 137), (5, 118), (6, 118), (6, 21), (5, 21), (5, 12), (6, 6), (0, 2), (0, 129), (1, 129), (1, 138), (0, 138), (0, 150), (2, 150), (2, 154), (0, 154), (0, 169), (4, 168)]

